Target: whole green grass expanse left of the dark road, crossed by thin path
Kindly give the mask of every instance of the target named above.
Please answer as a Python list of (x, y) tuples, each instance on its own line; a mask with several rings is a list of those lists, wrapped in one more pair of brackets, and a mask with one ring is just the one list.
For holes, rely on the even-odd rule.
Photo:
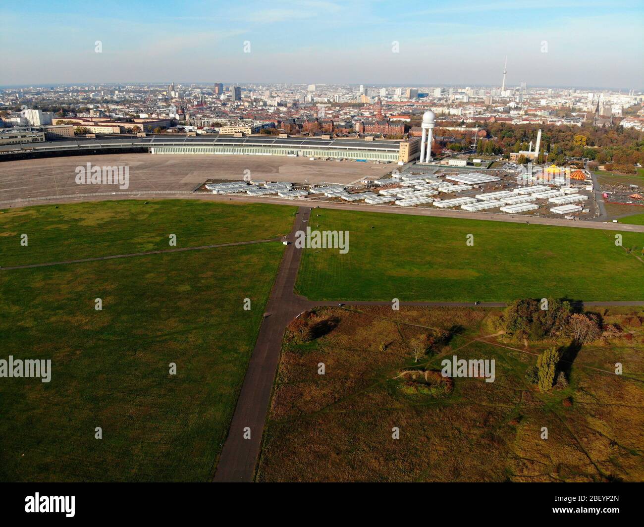
[[(3, 259), (32, 263), (162, 248), (166, 231), (179, 246), (270, 238), (289, 231), (292, 209), (104, 202), (0, 218), (33, 233), (29, 253), (3, 238)], [(282, 252), (268, 242), (0, 271), (0, 358), (52, 359), (50, 383), (0, 379), (0, 481), (209, 480)]]

